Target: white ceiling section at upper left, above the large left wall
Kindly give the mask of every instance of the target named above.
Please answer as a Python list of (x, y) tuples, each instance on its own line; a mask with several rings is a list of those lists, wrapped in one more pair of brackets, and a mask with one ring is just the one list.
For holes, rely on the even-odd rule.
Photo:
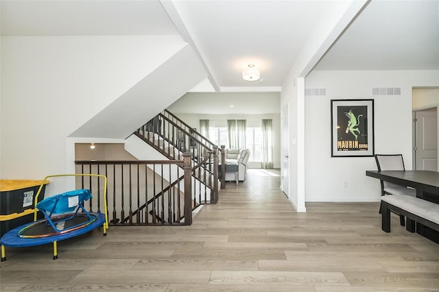
[(2, 36), (178, 34), (160, 1), (0, 0)]

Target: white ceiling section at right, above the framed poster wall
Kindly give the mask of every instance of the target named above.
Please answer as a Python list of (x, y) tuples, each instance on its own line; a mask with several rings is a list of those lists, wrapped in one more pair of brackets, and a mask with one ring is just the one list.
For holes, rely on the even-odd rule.
[(316, 70), (439, 69), (439, 1), (372, 1)]

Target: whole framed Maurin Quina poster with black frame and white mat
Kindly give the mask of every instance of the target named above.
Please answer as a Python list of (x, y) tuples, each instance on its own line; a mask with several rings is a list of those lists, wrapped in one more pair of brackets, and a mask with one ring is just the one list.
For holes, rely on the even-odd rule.
[(331, 157), (373, 156), (373, 99), (331, 99)]

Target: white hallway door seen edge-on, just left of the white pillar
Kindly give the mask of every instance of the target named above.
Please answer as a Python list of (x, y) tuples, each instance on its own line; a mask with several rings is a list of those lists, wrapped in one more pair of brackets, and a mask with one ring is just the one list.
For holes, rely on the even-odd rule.
[(289, 104), (282, 108), (281, 113), (281, 154), (282, 154), (282, 168), (281, 168), (281, 190), (287, 197), (289, 197)]

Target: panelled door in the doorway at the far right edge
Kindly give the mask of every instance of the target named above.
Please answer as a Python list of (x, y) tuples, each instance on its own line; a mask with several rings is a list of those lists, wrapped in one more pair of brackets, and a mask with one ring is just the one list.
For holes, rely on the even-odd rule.
[(414, 112), (415, 169), (438, 171), (438, 109)]

